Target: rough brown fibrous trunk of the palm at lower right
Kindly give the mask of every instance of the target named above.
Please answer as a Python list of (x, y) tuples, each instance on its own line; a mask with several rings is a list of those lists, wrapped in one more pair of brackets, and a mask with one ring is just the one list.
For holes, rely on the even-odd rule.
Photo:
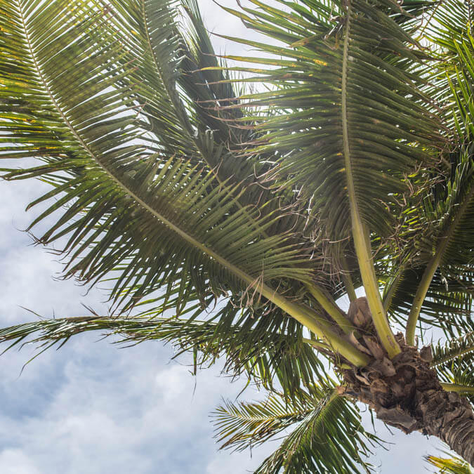
[(368, 404), (379, 419), (404, 433), (418, 430), (439, 437), (473, 465), (474, 414), (470, 403), (466, 397), (442, 389), (429, 367), (429, 348), (419, 352), (405, 344), (401, 333), (397, 341), (402, 353), (388, 360), (376, 338), (360, 337), (359, 342), (374, 359), (362, 369), (342, 371), (347, 386), (341, 393)]

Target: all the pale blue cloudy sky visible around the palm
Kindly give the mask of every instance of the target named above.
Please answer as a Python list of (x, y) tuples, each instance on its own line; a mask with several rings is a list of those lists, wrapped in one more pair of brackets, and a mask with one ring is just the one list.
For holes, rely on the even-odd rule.
[[(211, 0), (199, 4), (211, 32), (249, 35)], [(213, 41), (224, 48), (222, 39)], [(230, 44), (225, 50), (243, 52)], [(55, 256), (22, 232), (39, 213), (25, 213), (25, 206), (44, 190), (37, 182), (0, 182), (1, 327), (34, 318), (24, 308), (45, 317), (84, 315), (81, 303), (98, 313), (108, 309), (100, 289), (86, 294), (72, 280), (58, 281)], [(269, 442), (252, 455), (218, 451), (209, 413), (223, 398), (235, 400), (244, 381), (232, 383), (218, 366), (192, 376), (187, 360), (171, 360), (169, 345), (119, 348), (99, 338), (77, 336), (22, 372), (32, 348), (0, 357), (1, 474), (241, 474), (252, 472), (277, 447)], [(239, 400), (256, 397), (249, 388)], [(371, 428), (367, 412), (363, 419)], [(440, 447), (419, 433), (391, 435), (378, 422), (376, 433), (393, 443), (371, 458), (383, 474), (426, 472), (422, 456)]]

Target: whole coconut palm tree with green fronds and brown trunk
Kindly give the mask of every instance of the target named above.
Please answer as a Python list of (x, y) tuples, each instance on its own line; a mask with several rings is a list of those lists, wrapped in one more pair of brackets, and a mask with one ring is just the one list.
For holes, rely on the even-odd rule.
[(0, 155), (39, 159), (4, 179), (51, 185), (37, 242), (112, 303), (1, 341), (224, 356), (269, 395), (223, 445), (292, 429), (259, 473), (367, 470), (355, 401), (474, 463), (470, 2), (250, 4), (258, 53), (217, 58), (195, 0), (0, 0)]

